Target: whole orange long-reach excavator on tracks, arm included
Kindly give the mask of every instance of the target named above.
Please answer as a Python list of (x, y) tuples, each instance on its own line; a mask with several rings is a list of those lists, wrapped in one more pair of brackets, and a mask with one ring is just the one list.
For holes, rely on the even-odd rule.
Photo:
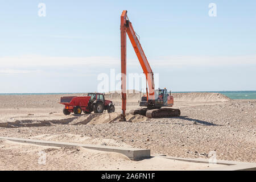
[[(174, 97), (167, 89), (156, 89), (154, 84), (154, 73), (147, 61), (141, 43), (133, 29), (128, 16), (127, 10), (121, 14), (121, 94), (122, 94), (122, 114), (119, 121), (126, 121), (126, 34), (141, 64), (144, 75), (146, 76), (146, 96), (141, 97), (140, 106), (142, 109), (131, 111), (131, 114), (141, 114), (148, 118), (176, 117), (180, 115), (179, 109), (168, 108), (174, 105)], [(164, 108), (161, 108), (164, 107)], [(167, 107), (167, 108), (166, 108)]]

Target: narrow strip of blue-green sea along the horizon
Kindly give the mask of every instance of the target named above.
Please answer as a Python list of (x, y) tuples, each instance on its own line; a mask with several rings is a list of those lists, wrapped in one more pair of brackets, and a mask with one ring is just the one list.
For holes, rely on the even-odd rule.
[[(256, 99), (256, 91), (206, 91), (206, 92), (221, 93), (231, 99)], [(174, 92), (174, 93), (189, 93), (189, 92)], [(0, 93), (0, 96), (49, 95), (49, 94), (73, 94), (73, 93)], [(77, 94), (80, 94), (80, 93), (77, 93)]]

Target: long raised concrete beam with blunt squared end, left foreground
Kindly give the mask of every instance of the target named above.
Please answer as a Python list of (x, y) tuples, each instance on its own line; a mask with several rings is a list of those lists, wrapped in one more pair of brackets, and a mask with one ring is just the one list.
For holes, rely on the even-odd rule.
[(41, 146), (51, 146), (51, 147), (84, 147), (92, 150), (100, 150), (106, 152), (118, 152), (126, 155), (132, 160), (142, 160), (150, 158), (150, 150), (142, 148), (127, 148), (127, 147), (114, 147), (114, 146), (101, 146), (92, 144), (82, 144), (82, 143), (70, 143), (70, 142), (55, 142), (48, 140), (36, 140), (36, 139), (26, 139), (26, 138), (14, 138), (14, 137), (0, 137), (0, 139), (6, 139), (13, 142), (20, 143), (30, 143), (38, 144)]

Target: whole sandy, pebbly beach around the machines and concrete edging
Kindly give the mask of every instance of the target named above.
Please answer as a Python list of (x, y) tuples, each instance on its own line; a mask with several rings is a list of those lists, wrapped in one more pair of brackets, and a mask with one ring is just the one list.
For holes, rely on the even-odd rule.
[[(71, 94), (68, 94), (69, 96)], [(73, 94), (79, 96), (79, 94)], [(83, 95), (83, 94), (80, 94)], [(109, 93), (115, 113), (64, 115), (64, 94), (0, 96), (0, 136), (148, 148), (151, 154), (256, 162), (256, 100), (231, 100), (219, 93), (174, 93), (180, 117), (146, 118), (127, 114), (119, 122), (121, 99)], [(127, 96), (127, 110), (137, 109), (139, 93)], [(38, 152), (47, 154), (38, 164)], [(163, 165), (164, 163), (164, 165)], [(177, 168), (181, 166), (180, 168)], [(187, 170), (163, 158), (135, 162), (125, 155), (85, 148), (43, 147), (0, 140), (1, 170)]]

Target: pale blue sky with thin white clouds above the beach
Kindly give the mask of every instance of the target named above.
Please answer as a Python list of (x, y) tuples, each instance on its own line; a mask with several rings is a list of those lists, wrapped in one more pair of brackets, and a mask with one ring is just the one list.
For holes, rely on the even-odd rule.
[(0, 0), (0, 93), (94, 92), (113, 69), (119, 90), (123, 10), (160, 88), (256, 90), (256, 1)]

